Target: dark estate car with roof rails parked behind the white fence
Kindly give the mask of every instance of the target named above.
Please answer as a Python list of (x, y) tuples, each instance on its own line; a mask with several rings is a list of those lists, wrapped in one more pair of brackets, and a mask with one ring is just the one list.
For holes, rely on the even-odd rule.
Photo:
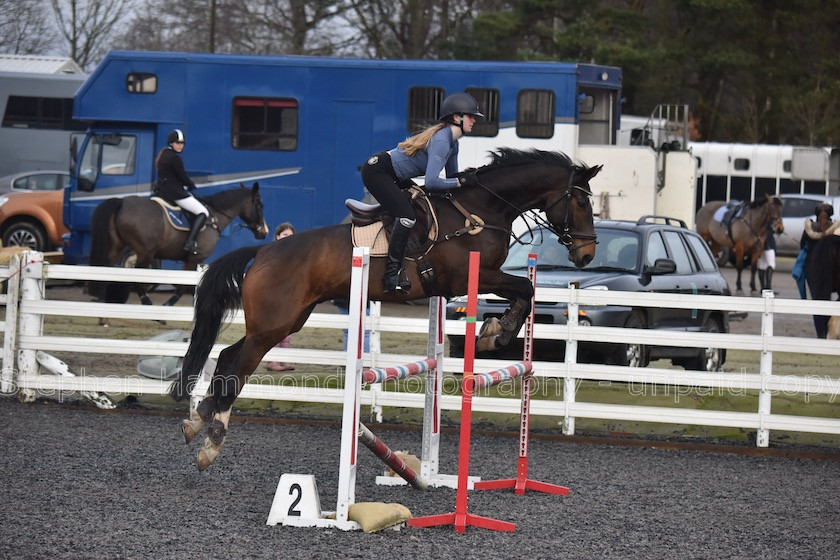
[[(598, 246), (595, 258), (585, 268), (576, 269), (568, 260), (566, 248), (547, 230), (532, 236), (526, 233), (511, 245), (502, 269), (527, 276), (527, 257), (536, 253), (537, 285), (565, 288), (577, 282), (584, 290), (661, 292), (730, 295), (708, 245), (685, 223), (672, 218), (644, 216), (637, 222), (602, 220), (595, 223)], [(529, 242), (530, 241), (530, 242)], [(447, 319), (465, 317), (466, 298), (456, 298), (446, 308)], [(536, 322), (566, 324), (564, 303), (536, 302)], [(480, 296), (477, 320), (501, 317), (507, 302), (494, 296)], [(581, 307), (578, 321), (598, 327), (656, 329), (667, 336), (670, 331), (728, 332), (729, 317), (724, 311), (602, 305)], [(449, 336), (452, 355), (463, 355), (464, 337)], [(560, 348), (557, 348), (557, 346)], [(535, 359), (562, 351), (562, 341), (538, 340)], [(504, 349), (499, 350), (503, 353)], [(721, 348), (645, 346), (641, 344), (579, 344), (583, 361), (644, 367), (650, 360), (667, 358), (675, 365), (700, 371), (719, 371), (726, 360)], [(542, 357), (541, 357), (542, 356)]]

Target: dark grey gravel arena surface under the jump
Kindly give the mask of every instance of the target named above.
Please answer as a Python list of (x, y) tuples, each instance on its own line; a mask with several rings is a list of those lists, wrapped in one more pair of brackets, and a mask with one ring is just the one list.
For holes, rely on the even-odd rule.
[[(531, 442), (531, 478), (569, 496), (472, 491), (469, 511), (514, 533), (451, 527), (380, 533), (265, 524), (282, 473), (314, 474), (334, 509), (340, 430), (238, 421), (204, 473), (180, 419), (0, 398), (2, 558), (803, 558), (840, 553), (840, 462)], [(386, 431), (395, 449), (419, 433)], [(455, 471), (457, 436), (442, 438)], [(472, 474), (515, 474), (516, 441), (472, 439)], [(416, 516), (454, 510), (455, 491), (380, 487), (360, 450), (357, 501)]]

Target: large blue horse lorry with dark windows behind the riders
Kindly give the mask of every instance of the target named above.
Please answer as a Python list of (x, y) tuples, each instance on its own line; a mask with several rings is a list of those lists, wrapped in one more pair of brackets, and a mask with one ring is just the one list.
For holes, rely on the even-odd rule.
[[(345, 199), (365, 196), (361, 164), (436, 122), (455, 91), (472, 94), (486, 115), (461, 141), (462, 168), (500, 146), (580, 157), (580, 146), (616, 144), (614, 67), (110, 52), (74, 98), (73, 118), (88, 128), (71, 146), (64, 262), (88, 262), (91, 215), (103, 200), (150, 195), (155, 157), (174, 128), (186, 134), (198, 196), (259, 182), (270, 227), (307, 229), (345, 219)], [(209, 260), (255, 243), (236, 223)]]

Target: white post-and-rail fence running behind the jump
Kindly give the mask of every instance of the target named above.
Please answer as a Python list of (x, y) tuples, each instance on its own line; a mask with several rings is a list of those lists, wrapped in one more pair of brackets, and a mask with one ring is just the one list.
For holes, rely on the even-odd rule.
[[(351, 263), (347, 263), (348, 267)], [(8, 266), (0, 267), (0, 280), (6, 283), (6, 291), (0, 299), (5, 308), (3, 324), (3, 364), (0, 370), (0, 392), (5, 395), (60, 393), (62, 391), (82, 392), (99, 406), (108, 406), (107, 395), (165, 395), (169, 381), (142, 377), (133, 371), (97, 371), (95, 375), (74, 375), (56, 367), (52, 352), (74, 352), (92, 354), (122, 354), (130, 356), (174, 356), (181, 357), (187, 349), (185, 342), (155, 340), (115, 340), (84, 336), (55, 336), (43, 334), (45, 320), (51, 317), (112, 317), (148, 319), (154, 321), (192, 321), (193, 309), (189, 306), (163, 307), (139, 304), (106, 304), (48, 299), (48, 280), (86, 281), (108, 280), (114, 282), (145, 282), (148, 284), (194, 285), (200, 272), (174, 270), (135, 270), (124, 268), (103, 268), (50, 264), (40, 253), (26, 252), (13, 257)], [(774, 298), (765, 293), (763, 297), (726, 297), (681, 294), (642, 294), (600, 290), (579, 290), (574, 287), (538, 288), (537, 299), (541, 302), (567, 302), (571, 318), (567, 325), (534, 325), (536, 339), (563, 340), (566, 342), (565, 361), (533, 362), (533, 377), (545, 381), (554, 378), (562, 380), (562, 396), (554, 399), (535, 395), (531, 400), (531, 414), (556, 418), (562, 423), (565, 434), (575, 431), (575, 419), (589, 418), (614, 421), (655, 422), (678, 425), (700, 425), (730, 427), (754, 430), (759, 447), (769, 445), (769, 434), (773, 430), (840, 434), (838, 417), (785, 415), (772, 412), (775, 396), (799, 395), (803, 402), (809, 395), (823, 395), (830, 403), (840, 397), (840, 360), (836, 366), (825, 371), (814, 371), (807, 375), (794, 375), (774, 371), (774, 355), (777, 353), (817, 354), (840, 357), (840, 341), (818, 340), (805, 337), (774, 335), (774, 324), (783, 324), (792, 315), (840, 315), (840, 302), (803, 301)], [(757, 334), (688, 333), (652, 331), (644, 329), (620, 329), (615, 327), (592, 327), (577, 324), (578, 308), (593, 305), (620, 305), (629, 307), (668, 307), (683, 309), (715, 309), (724, 312), (756, 313), (761, 315), (761, 332)], [(232, 318), (242, 323), (241, 312)], [(366, 317), (371, 331), (370, 352), (363, 357), (364, 367), (390, 367), (409, 363), (416, 359), (411, 355), (387, 354), (380, 351), (378, 337), (383, 332), (428, 334), (427, 319), (412, 319), (383, 316), (378, 305), (371, 307)], [(307, 327), (347, 329), (348, 317), (331, 313), (313, 313)], [(464, 321), (445, 321), (447, 334), (461, 335), (466, 332)], [(748, 350), (758, 353), (754, 369), (742, 372), (699, 372), (683, 369), (627, 368), (599, 364), (577, 363), (576, 348), (579, 342), (640, 343), (658, 346), (684, 346), (696, 348), (725, 348), (727, 350)], [(216, 344), (211, 358), (216, 358), (225, 347)], [(346, 353), (341, 350), (315, 350), (307, 348), (273, 349), (267, 360), (316, 364), (325, 371), (336, 371), (347, 362)], [(476, 360), (475, 367), (493, 370), (506, 365), (500, 360)], [(444, 373), (460, 374), (464, 361), (447, 357), (440, 365)], [(329, 368), (329, 369), (328, 369)], [(56, 372), (58, 374), (56, 375)], [(626, 383), (631, 387), (660, 388), (680, 394), (685, 391), (705, 390), (726, 392), (739, 396), (758, 394), (755, 410), (698, 410), (685, 407), (649, 406), (643, 404), (609, 404), (606, 402), (584, 402), (578, 400), (579, 381)], [(204, 394), (208, 380), (205, 378), (196, 386), (194, 394)], [(596, 383), (597, 384), (597, 383)], [(630, 389), (628, 389), (628, 392)], [(268, 399), (276, 401), (334, 403), (343, 402), (342, 388), (323, 386), (294, 386), (288, 383), (248, 383), (241, 395), (246, 399)], [(99, 399), (98, 401), (96, 399)], [(632, 403), (628, 397), (627, 402)], [(361, 392), (361, 404), (373, 407), (407, 407), (423, 409), (425, 395), (418, 392), (400, 392), (382, 388), (381, 384)], [(444, 394), (441, 397), (443, 410), (459, 410), (460, 393)], [(807, 410), (807, 402), (805, 404)], [(816, 408), (816, 407), (815, 407)], [(518, 415), (520, 403), (516, 398), (477, 395), (473, 410)]]

